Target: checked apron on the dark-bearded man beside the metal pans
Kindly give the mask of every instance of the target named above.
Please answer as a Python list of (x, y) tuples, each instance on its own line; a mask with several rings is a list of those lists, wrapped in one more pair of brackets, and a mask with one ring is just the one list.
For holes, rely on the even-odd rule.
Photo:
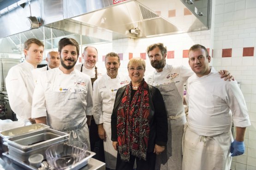
[[(53, 84), (54, 81), (52, 89)], [(47, 124), (54, 130), (66, 133), (73, 130), (77, 136), (74, 141), (85, 143), (90, 150), (89, 129), (80, 93), (77, 89), (49, 91), (46, 100)]]

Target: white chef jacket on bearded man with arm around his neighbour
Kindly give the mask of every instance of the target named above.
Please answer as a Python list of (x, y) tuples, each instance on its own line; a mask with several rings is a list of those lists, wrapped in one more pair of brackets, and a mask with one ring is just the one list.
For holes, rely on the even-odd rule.
[(192, 74), (194, 74), (194, 72), (185, 66), (173, 66), (166, 64), (162, 72), (154, 70), (153, 73), (149, 74), (146, 77), (146, 82), (149, 85), (156, 86), (170, 83), (172, 79), (175, 82), (180, 96), (183, 98), (184, 84)]

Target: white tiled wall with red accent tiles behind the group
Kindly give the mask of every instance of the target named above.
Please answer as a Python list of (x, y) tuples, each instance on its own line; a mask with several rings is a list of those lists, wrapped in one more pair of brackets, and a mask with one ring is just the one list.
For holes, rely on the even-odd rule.
[[(241, 81), (241, 90), (244, 94), (251, 126), (245, 134), (246, 152), (244, 155), (232, 159), (232, 169), (256, 170), (256, 49), (254, 56), (243, 57), (244, 47), (256, 48), (256, 0), (213, 0), (212, 28), (207, 31), (198, 31), (185, 34), (158, 36), (146, 39), (114, 40), (107, 45), (95, 45), (99, 50), (98, 66), (104, 67), (102, 55), (113, 51), (123, 53), (120, 71), (127, 73), (129, 52), (133, 57), (140, 57), (146, 52), (148, 45), (162, 42), (167, 51), (175, 51), (174, 59), (167, 59), (173, 65), (188, 66), (188, 58), (183, 58), (183, 50), (191, 45), (202, 44), (206, 48), (214, 49), (211, 64), (217, 70), (229, 70), (234, 77)], [(222, 57), (222, 49), (232, 49), (232, 57)], [(146, 74), (153, 70), (146, 59)]]

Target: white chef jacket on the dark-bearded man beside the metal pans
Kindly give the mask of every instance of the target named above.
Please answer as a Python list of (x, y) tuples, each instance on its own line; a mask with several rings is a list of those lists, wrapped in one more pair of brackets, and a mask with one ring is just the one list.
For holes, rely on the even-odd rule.
[(92, 115), (92, 85), (88, 75), (82, 74), (76, 69), (70, 74), (64, 74), (60, 68), (42, 72), (33, 95), (32, 119), (47, 116), (46, 99), (49, 91), (72, 92), (75, 89), (81, 92), (80, 96), (86, 115)]

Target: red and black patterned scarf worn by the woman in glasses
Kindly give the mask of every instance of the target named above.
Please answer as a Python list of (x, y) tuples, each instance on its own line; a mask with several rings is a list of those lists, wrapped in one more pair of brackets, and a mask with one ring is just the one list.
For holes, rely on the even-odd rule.
[(132, 84), (125, 89), (117, 111), (118, 150), (123, 161), (131, 154), (146, 160), (149, 141), (149, 90), (144, 81), (131, 100)]

